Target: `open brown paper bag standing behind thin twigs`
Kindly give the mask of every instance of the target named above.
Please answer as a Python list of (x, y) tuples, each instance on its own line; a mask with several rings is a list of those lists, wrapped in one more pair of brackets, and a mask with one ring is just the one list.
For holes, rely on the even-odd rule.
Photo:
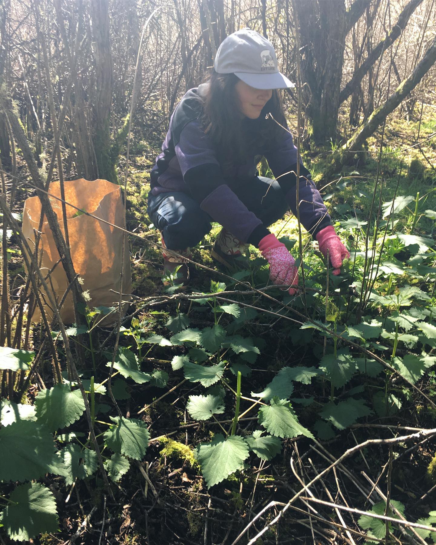
[[(85, 210), (114, 225), (123, 227), (123, 199), (119, 185), (112, 184), (107, 180), (88, 181), (71, 180), (64, 182), (65, 201), (74, 204), (76, 207)], [(60, 197), (60, 184), (53, 181), (50, 184), (49, 193)], [(59, 227), (64, 234), (64, 223), (62, 214), (62, 203), (50, 197), (53, 210), (58, 216)], [(120, 271), (123, 237), (125, 236), (124, 249), (124, 281), (122, 292), (131, 293), (130, 253), (127, 236), (117, 229), (99, 220), (89, 217), (86, 214), (77, 214), (75, 208), (66, 204), (66, 222), (70, 241), (71, 259), (74, 269), (83, 279), (83, 290), (89, 292), (90, 308), (94, 306), (117, 305), (118, 295), (110, 290), (120, 290)], [(23, 212), (23, 234), (27, 237), (29, 246), (33, 250), (35, 245), (34, 229), (38, 230), (41, 217), (41, 201), (38, 197), (26, 199)], [(49, 223), (44, 217), (41, 229), (38, 258), (41, 272), (46, 276), (59, 259), (59, 253), (54, 244), (53, 234)], [(51, 282), (47, 278), (47, 286), (53, 287), (53, 295), (56, 301), (60, 301), (68, 287), (68, 280), (62, 266), (59, 263), (50, 275)], [(49, 302), (48, 298), (43, 300)], [(123, 300), (129, 298), (124, 297)], [(124, 305), (124, 310), (128, 304)], [(53, 312), (46, 306), (49, 318)], [(60, 312), (62, 321), (65, 324), (74, 322), (74, 307), (72, 296), (69, 294), (62, 305)], [(33, 322), (40, 321), (39, 308), (34, 312)], [(115, 322), (116, 315), (110, 314), (102, 324), (108, 325)]]

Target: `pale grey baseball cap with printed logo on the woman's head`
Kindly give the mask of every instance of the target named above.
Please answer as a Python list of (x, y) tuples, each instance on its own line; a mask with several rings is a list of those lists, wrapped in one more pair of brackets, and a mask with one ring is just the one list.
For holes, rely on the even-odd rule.
[(215, 71), (234, 74), (255, 89), (295, 87), (277, 69), (277, 57), (269, 40), (250, 28), (234, 32), (222, 41), (216, 52)]

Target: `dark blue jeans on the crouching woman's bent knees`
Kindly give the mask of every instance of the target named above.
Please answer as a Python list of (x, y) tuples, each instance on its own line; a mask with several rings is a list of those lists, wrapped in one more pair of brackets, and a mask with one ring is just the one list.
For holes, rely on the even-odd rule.
[[(289, 206), (276, 180), (253, 177), (232, 184), (232, 190), (265, 227), (284, 216)], [(148, 194), (148, 215), (164, 235), (169, 250), (195, 246), (209, 233), (214, 220), (188, 193), (172, 191)]]

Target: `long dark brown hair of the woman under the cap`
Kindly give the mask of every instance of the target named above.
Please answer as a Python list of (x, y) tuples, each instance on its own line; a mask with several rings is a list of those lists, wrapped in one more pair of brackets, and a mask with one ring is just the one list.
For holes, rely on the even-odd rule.
[[(262, 143), (274, 146), (283, 130), (274, 119), (286, 126), (282, 101), (276, 89), (258, 119), (241, 117), (235, 90), (238, 81), (234, 74), (217, 74), (215, 70), (207, 81), (203, 105), (204, 131), (211, 137), (223, 171), (246, 160), (247, 152)], [(274, 119), (271, 116), (266, 118), (268, 113)]]

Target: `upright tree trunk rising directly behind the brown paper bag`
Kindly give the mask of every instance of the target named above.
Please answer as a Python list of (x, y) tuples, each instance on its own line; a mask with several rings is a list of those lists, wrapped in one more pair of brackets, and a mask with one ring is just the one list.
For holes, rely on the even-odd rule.
[(109, 124), (112, 102), (112, 54), (110, 40), (109, 2), (92, 0), (89, 3), (94, 42), (96, 92), (93, 107), (93, 144), (96, 158), (96, 177), (116, 181), (111, 158)]

